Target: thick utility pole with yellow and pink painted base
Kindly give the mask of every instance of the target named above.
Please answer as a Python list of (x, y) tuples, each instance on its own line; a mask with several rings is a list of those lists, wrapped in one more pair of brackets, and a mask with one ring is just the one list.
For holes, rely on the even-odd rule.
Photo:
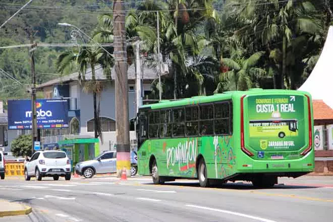
[(131, 176), (130, 120), (128, 113), (127, 51), (124, 2), (124, 0), (114, 0), (113, 2), (118, 177), (121, 177), (124, 169), (126, 169), (127, 176)]

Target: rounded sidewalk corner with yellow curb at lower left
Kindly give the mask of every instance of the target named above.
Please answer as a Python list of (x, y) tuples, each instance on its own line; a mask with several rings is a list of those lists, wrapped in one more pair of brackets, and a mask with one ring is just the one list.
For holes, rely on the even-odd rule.
[(31, 211), (29, 206), (0, 199), (0, 217), (29, 214)]

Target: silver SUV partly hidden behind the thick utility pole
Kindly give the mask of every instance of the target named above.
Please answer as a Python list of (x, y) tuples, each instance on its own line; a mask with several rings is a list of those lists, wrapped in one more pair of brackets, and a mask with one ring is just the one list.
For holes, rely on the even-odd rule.
[[(136, 163), (131, 161), (131, 175), (136, 175), (137, 171)], [(106, 151), (92, 160), (77, 163), (75, 172), (85, 178), (92, 178), (95, 174), (116, 173), (117, 151)]]

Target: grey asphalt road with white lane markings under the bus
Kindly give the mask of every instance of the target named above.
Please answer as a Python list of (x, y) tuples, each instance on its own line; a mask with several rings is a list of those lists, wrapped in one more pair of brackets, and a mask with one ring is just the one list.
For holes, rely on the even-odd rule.
[(150, 178), (7, 179), (0, 181), (0, 199), (33, 212), (0, 221), (332, 221), (333, 177), (279, 183), (254, 189), (246, 183), (201, 188), (190, 180), (152, 185)]

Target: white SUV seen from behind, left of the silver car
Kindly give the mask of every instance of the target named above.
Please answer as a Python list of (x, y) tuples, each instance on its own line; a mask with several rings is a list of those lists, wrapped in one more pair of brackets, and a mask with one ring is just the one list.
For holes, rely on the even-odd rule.
[(53, 177), (53, 180), (65, 177), (71, 180), (71, 161), (64, 151), (37, 151), (24, 166), (25, 180), (30, 180), (30, 177), (36, 177), (39, 181), (42, 177)]

